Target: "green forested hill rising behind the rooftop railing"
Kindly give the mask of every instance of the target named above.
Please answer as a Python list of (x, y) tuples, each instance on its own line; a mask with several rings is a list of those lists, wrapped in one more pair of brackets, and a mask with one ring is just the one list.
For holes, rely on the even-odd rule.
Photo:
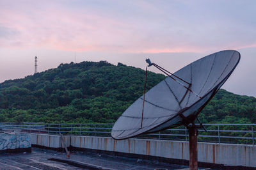
[[(145, 71), (106, 61), (58, 68), (0, 84), (0, 122), (113, 123), (143, 94)], [(147, 89), (164, 79), (149, 72)], [(256, 98), (221, 89), (200, 114), (203, 122), (256, 123)]]

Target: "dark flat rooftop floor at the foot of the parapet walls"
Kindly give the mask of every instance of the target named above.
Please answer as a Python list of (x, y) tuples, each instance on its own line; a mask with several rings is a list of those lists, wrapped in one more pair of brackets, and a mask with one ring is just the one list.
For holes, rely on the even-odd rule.
[[(32, 148), (31, 153), (5, 153), (0, 155), (0, 169), (84, 169), (66, 163), (49, 160), (56, 158), (90, 164), (102, 169), (187, 169), (188, 166), (166, 164), (163, 162), (136, 158), (116, 157), (113, 155), (84, 153), (74, 151), (67, 159), (65, 153), (53, 150)], [(86, 168), (85, 168), (86, 169)], [(88, 168), (90, 169), (90, 168)]]

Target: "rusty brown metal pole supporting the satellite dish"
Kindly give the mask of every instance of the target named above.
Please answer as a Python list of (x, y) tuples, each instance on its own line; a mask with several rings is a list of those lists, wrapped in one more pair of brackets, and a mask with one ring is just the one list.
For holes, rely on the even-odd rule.
[(188, 127), (189, 133), (189, 169), (197, 169), (197, 136), (198, 130), (195, 125)]

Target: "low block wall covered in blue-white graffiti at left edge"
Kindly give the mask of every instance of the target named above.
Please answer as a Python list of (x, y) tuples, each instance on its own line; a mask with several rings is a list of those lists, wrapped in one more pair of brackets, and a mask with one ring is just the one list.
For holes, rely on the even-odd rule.
[(0, 134), (0, 150), (17, 150), (31, 148), (29, 134), (9, 133)]

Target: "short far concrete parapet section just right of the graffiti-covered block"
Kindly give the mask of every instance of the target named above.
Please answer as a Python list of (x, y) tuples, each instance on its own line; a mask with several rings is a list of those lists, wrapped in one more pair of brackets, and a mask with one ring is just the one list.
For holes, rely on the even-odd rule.
[[(45, 148), (63, 148), (60, 135), (30, 134), (31, 144)], [(63, 139), (67, 147), (70, 146), (70, 136), (64, 135)]]

